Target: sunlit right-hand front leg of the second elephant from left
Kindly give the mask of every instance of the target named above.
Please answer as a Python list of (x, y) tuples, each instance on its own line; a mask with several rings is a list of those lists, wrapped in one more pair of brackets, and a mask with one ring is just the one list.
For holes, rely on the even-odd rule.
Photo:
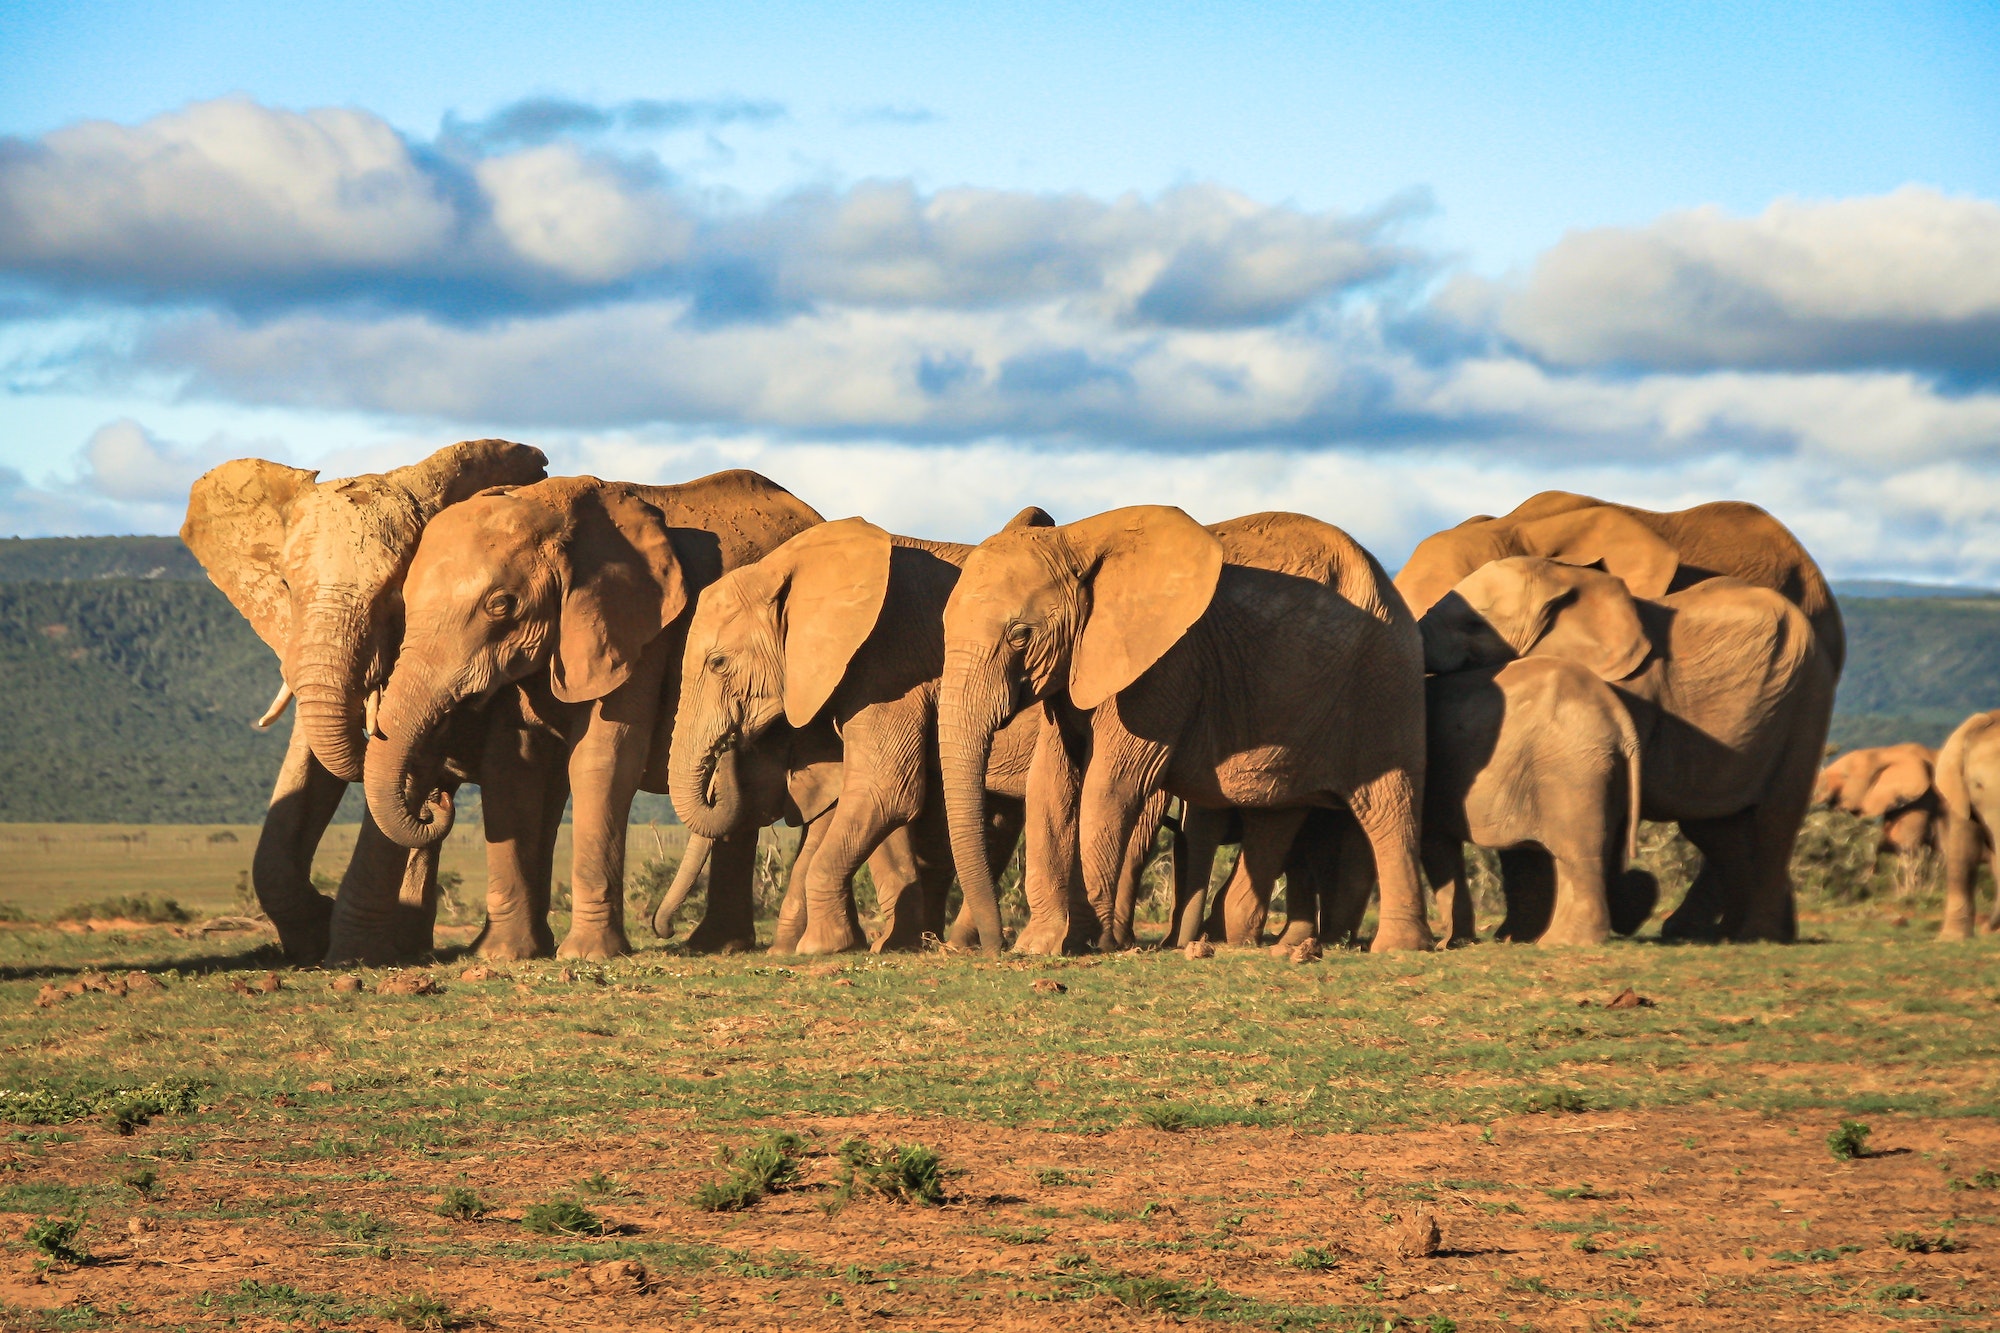
[[(624, 693), (622, 687), (618, 693)], [(570, 793), (576, 819), (570, 829), (570, 933), (556, 949), (562, 959), (618, 959), (632, 953), (624, 931), (624, 853), (632, 797), (646, 767), (650, 729), (592, 717), (570, 751)], [(714, 873), (710, 871), (710, 883)]]

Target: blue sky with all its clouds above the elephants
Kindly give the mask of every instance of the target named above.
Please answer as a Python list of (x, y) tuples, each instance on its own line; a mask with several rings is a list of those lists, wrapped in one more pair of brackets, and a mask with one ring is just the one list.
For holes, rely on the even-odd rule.
[(498, 432), (938, 536), (1394, 562), (1562, 486), (2000, 578), (1994, 6), (40, 8), (0, 530)]

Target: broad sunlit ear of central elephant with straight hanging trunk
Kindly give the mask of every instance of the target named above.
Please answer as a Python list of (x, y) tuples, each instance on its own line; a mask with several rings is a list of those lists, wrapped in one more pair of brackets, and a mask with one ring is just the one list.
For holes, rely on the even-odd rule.
[(1222, 542), (1170, 504), (1062, 528), (1088, 560), (1090, 612), (1070, 652), (1070, 703), (1096, 709), (1180, 642), (1222, 578)]

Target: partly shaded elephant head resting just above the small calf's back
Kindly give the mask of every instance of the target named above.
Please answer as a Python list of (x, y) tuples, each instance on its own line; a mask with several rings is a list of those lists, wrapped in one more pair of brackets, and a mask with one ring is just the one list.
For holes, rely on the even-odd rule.
[(1562, 656), (1602, 681), (1626, 681), (1652, 654), (1638, 604), (1602, 570), (1510, 556), (1480, 566), (1418, 620), (1424, 671)]

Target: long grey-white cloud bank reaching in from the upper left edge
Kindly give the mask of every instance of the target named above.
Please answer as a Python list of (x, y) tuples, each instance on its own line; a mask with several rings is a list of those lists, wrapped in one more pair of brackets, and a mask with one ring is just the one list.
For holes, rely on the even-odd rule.
[(1392, 242), (1416, 200), (1342, 216), (1216, 186), (1098, 200), (868, 182), (740, 208), (684, 188), (658, 158), (570, 138), (766, 112), (536, 100), (436, 144), (360, 110), (248, 100), (76, 124), (0, 140), (0, 272), (264, 312), (362, 300), (480, 318), (676, 292), (714, 320), (1062, 296), (1126, 322), (1230, 326), (1422, 260)]

